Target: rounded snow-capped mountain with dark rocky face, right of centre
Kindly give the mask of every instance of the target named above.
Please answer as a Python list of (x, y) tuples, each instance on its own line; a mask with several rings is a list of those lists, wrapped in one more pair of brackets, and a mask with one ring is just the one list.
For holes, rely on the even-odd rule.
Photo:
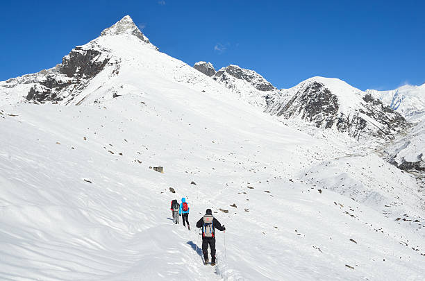
[(301, 119), (318, 128), (335, 128), (356, 139), (394, 139), (396, 133), (410, 126), (389, 106), (339, 79), (310, 78), (281, 93), (281, 99), (269, 101), (266, 112)]

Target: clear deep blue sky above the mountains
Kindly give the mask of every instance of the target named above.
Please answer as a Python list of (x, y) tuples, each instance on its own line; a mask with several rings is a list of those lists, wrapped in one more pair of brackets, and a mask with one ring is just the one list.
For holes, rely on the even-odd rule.
[(189, 65), (311, 76), (361, 90), (425, 83), (425, 1), (2, 1), (0, 80), (53, 67), (124, 15)]

